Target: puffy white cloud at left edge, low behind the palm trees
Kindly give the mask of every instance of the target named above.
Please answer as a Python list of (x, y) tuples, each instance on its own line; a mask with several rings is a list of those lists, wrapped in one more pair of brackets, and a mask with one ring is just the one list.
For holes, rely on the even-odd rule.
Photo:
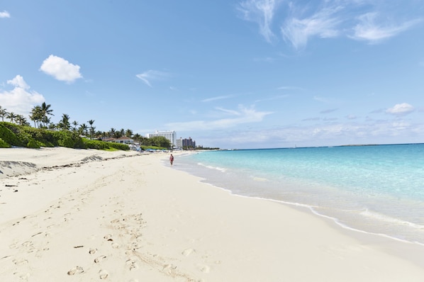
[(0, 91), (0, 105), (1, 108), (6, 108), (9, 113), (28, 115), (33, 106), (45, 102), (43, 95), (28, 90), (30, 86), (20, 75), (8, 80), (7, 84), (14, 86), (14, 88), (11, 91)]

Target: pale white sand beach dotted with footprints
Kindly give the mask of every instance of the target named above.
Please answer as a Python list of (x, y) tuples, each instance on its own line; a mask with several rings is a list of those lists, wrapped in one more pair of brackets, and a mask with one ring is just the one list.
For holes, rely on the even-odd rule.
[(167, 158), (0, 149), (0, 281), (424, 279), (423, 246), (233, 196)]

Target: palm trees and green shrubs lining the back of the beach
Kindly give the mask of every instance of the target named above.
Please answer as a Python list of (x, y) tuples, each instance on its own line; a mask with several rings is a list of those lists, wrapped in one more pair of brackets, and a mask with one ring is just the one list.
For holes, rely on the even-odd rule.
[[(77, 120), (71, 122), (69, 115), (62, 114), (58, 123), (52, 123), (50, 116), (53, 110), (50, 104), (42, 103), (34, 106), (28, 118), (33, 121), (31, 127), (27, 118), (23, 115), (9, 113), (6, 108), (0, 106), (0, 147), (69, 147), (88, 148), (99, 150), (129, 150), (128, 145), (118, 142), (103, 142), (106, 138), (129, 137), (140, 144), (142, 150), (169, 150), (172, 144), (163, 136), (143, 137), (140, 134), (133, 134), (133, 130), (96, 131), (94, 120), (88, 120), (87, 124), (78, 123)], [(9, 119), (10, 123), (4, 121)], [(89, 136), (89, 138), (84, 138)], [(196, 150), (198, 148), (186, 147), (185, 150)], [(203, 149), (203, 148), (201, 148)], [(208, 149), (203, 149), (208, 150)]]

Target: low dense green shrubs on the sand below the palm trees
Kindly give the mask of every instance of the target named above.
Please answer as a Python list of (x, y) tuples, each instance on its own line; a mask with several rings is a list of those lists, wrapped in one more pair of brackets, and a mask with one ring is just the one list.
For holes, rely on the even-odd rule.
[(28, 125), (0, 122), (0, 147), (10, 148), (12, 146), (27, 148), (67, 147), (72, 149), (130, 150), (126, 144), (88, 140), (80, 137), (78, 132), (70, 130), (31, 128)]

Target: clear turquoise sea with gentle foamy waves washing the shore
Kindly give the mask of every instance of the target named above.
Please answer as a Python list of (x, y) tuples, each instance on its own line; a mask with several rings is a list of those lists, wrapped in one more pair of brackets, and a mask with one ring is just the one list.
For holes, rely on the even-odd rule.
[(200, 152), (175, 168), (241, 196), (424, 244), (424, 144)]

